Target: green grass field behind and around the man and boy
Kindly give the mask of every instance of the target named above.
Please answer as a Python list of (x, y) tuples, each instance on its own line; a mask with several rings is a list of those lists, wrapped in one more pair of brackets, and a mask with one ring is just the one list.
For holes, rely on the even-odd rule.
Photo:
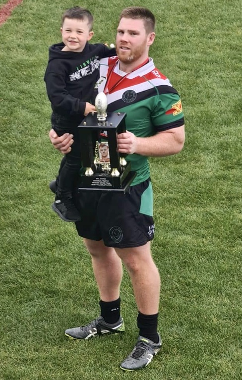
[[(0, 1), (2, 5), (5, 1)], [(240, 380), (242, 376), (242, 0), (89, 0), (93, 42), (115, 41), (129, 5), (157, 17), (150, 50), (182, 97), (181, 154), (151, 160), (163, 349), (147, 369), (119, 364), (136, 341), (124, 271), (126, 333), (73, 343), (99, 313), (89, 256), (51, 210), (61, 155), (48, 139), (43, 75), (60, 16), (77, 1), (24, 0), (0, 26), (0, 380)]]

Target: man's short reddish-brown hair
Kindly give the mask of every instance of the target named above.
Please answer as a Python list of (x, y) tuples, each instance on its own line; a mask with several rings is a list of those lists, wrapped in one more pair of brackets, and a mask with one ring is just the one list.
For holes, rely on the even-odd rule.
[(121, 11), (119, 21), (123, 17), (132, 18), (133, 20), (136, 20), (136, 19), (144, 20), (144, 27), (147, 34), (155, 31), (155, 24), (156, 24), (155, 16), (149, 9), (144, 8), (143, 6), (129, 6), (127, 8), (124, 8)]

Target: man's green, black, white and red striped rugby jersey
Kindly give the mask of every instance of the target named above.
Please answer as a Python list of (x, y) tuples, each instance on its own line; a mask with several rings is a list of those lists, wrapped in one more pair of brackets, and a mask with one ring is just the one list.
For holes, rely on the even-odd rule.
[[(138, 137), (184, 124), (182, 103), (178, 92), (154, 65), (152, 58), (131, 73), (119, 70), (117, 56), (100, 60), (98, 92), (105, 92), (109, 112), (126, 112), (126, 129)], [(148, 158), (128, 155), (132, 170), (137, 172), (132, 185), (150, 176)]]

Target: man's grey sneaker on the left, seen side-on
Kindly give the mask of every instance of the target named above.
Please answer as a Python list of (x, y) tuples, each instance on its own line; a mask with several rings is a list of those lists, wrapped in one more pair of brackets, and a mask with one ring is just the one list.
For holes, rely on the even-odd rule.
[(114, 324), (106, 323), (103, 317), (98, 317), (89, 325), (73, 327), (65, 330), (64, 334), (71, 339), (89, 339), (93, 336), (124, 332), (125, 327), (122, 317)]

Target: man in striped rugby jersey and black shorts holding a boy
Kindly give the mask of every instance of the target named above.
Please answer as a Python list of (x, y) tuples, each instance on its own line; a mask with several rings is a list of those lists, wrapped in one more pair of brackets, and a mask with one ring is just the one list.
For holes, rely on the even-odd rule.
[[(157, 332), (160, 276), (150, 251), (155, 227), (147, 157), (177, 154), (184, 143), (180, 96), (148, 57), (154, 30), (152, 12), (125, 8), (117, 31), (118, 57), (100, 61), (100, 77), (105, 79), (99, 91), (107, 95), (108, 111), (127, 114), (127, 131), (118, 136), (118, 149), (128, 155), (125, 159), (137, 175), (126, 194), (76, 195), (82, 216), (76, 228), (91, 254), (101, 313), (89, 325), (65, 331), (68, 337), (88, 339), (124, 330), (120, 314), (123, 262), (132, 281), (139, 328), (138, 341), (120, 366), (127, 371), (146, 367), (162, 344)], [(58, 137), (52, 130), (50, 138), (62, 153), (70, 151), (72, 135)]]

